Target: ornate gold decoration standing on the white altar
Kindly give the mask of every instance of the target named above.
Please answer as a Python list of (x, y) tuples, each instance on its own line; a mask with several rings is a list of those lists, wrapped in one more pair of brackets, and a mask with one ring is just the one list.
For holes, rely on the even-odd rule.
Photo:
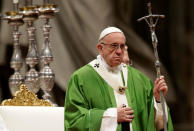
[(46, 100), (38, 99), (37, 95), (28, 91), (27, 86), (21, 84), (13, 99), (6, 99), (1, 103), (2, 106), (52, 106)]

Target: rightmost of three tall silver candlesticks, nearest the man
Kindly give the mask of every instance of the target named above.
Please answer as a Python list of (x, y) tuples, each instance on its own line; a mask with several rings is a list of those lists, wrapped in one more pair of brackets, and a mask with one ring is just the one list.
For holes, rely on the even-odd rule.
[(44, 1), (44, 4), (39, 6), (39, 17), (45, 19), (45, 24), (43, 26), (43, 34), (44, 34), (44, 44), (43, 49), (41, 51), (41, 62), (43, 66), (40, 71), (40, 87), (44, 91), (43, 98), (50, 101), (49, 92), (52, 90), (54, 86), (55, 74), (53, 70), (50, 68), (49, 64), (53, 61), (53, 55), (50, 48), (50, 40), (49, 34), (51, 26), (49, 25), (49, 19), (53, 18), (58, 9), (54, 4), (48, 4), (48, 1)]

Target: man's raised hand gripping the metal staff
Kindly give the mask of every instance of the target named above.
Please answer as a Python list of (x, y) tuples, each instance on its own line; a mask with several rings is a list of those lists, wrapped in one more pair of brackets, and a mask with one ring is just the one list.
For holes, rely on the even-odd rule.
[(164, 76), (160, 76), (159, 78), (155, 80), (154, 97), (157, 102), (160, 102), (160, 91), (162, 91), (163, 95), (166, 96), (166, 93), (168, 91), (168, 86), (166, 85)]

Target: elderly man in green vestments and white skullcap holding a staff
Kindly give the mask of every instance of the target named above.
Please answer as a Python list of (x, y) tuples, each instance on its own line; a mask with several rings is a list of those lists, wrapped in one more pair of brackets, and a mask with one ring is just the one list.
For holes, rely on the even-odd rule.
[[(153, 85), (138, 70), (122, 63), (125, 42), (120, 29), (104, 29), (97, 44), (97, 59), (71, 76), (65, 99), (66, 131), (162, 129), (159, 92), (166, 95), (168, 90), (164, 77)], [(172, 131), (169, 113), (166, 117)]]

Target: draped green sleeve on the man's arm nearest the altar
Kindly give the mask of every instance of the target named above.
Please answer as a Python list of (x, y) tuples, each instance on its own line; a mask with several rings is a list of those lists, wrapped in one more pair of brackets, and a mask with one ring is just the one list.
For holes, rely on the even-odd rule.
[(65, 130), (97, 131), (100, 129), (104, 110), (90, 107), (81, 81), (76, 74), (69, 81), (65, 103)]

